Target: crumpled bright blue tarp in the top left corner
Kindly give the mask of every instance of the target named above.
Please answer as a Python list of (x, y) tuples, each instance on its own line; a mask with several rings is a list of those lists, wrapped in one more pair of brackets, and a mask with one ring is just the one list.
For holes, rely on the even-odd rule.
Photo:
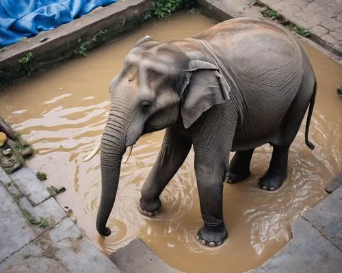
[(0, 0), (0, 47), (73, 21), (118, 0)]

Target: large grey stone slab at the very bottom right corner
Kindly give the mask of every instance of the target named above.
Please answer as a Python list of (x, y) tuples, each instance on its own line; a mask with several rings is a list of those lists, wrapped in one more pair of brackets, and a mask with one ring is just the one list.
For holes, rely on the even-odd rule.
[(291, 225), (293, 238), (274, 257), (248, 273), (311, 272), (340, 273), (342, 253), (312, 224), (298, 218)]

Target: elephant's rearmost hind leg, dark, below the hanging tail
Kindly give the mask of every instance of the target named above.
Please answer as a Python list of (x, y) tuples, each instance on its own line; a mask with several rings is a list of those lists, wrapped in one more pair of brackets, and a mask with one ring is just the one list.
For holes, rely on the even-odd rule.
[(272, 159), (266, 174), (260, 179), (259, 186), (263, 190), (278, 190), (287, 179), (287, 160), (289, 146), (274, 146)]

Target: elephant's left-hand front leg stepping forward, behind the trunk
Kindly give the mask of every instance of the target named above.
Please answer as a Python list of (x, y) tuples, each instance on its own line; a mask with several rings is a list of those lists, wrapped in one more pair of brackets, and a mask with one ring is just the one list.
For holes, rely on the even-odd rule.
[(159, 196), (174, 177), (189, 154), (192, 140), (168, 127), (161, 150), (152, 170), (142, 186), (142, 197), (138, 209), (146, 216), (157, 214), (161, 207)]

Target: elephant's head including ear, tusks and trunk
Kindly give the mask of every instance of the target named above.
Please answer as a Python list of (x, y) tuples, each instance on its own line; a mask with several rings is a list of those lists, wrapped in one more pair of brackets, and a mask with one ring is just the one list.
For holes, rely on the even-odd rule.
[[(228, 99), (229, 86), (200, 50), (181, 42), (160, 44), (150, 36), (139, 40), (110, 83), (111, 105), (101, 144), (102, 190), (96, 229), (106, 227), (114, 205), (122, 155), (141, 135), (181, 120), (185, 129), (212, 105)], [(131, 151), (131, 149), (130, 149)], [(129, 151), (129, 153), (130, 153)]]

